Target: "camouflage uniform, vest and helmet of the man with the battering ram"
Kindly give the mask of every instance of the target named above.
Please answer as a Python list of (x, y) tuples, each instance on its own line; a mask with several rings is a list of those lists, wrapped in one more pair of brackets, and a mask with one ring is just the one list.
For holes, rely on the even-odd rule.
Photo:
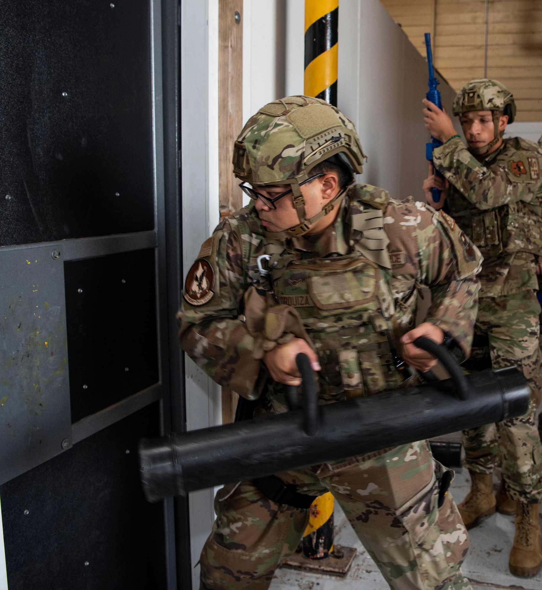
[[(478, 250), (445, 214), (412, 199), (391, 201), (369, 185), (341, 189), (306, 219), (300, 183), (339, 156), (361, 173), (354, 125), (335, 107), (294, 96), (260, 109), (235, 144), (234, 172), (252, 185), (290, 185), (299, 224), (264, 231), (252, 202), (218, 225), (187, 274), (182, 348), (220, 385), (259, 399), (260, 414), (287, 410), (283, 386), (260, 359), (294, 335), (318, 354), (320, 404), (404, 386), (395, 348), (413, 324), (422, 285), (432, 292), (427, 321), (459, 356), (469, 354)], [(334, 224), (306, 235), (334, 206)], [(269, 260), (260, 271), (263, 255)], [(426, 442), (415, 442), (278, 475), (305, 501), (331, 490), (391, 588), (470, 588), (460, 568), (465, 527), (450, 494), (440, 509), (436, 502), (442, 470)], [(259, 489), (241, 481), (218, 492), (202, 588), (264, 590), (298, 546), (308, 510)]]

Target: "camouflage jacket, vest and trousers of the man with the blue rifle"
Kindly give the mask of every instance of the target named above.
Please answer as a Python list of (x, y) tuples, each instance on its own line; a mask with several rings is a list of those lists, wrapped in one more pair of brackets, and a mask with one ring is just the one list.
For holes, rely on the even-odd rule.
[(531, 386), (527, 414), (463, 432), (465, 465), (502, 476), (512, 500), (542, 497), (542, 448), (534, 414), (541, 397), (540, 305), (536, 255), (542, 254), (542, 149), (520, 137), (505, 139), (482, 161), (459, 137), (433, 152), (450, 182), (450, 215), (484, 255), (470, 371), (516, 365)]

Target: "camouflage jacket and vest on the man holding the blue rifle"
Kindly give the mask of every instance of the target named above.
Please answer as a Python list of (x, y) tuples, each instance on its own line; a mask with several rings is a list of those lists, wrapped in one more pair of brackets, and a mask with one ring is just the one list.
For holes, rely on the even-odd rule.
[(542, 254), (542, 149), (520, 137), (479, 162), (459, 137), (433, 152), (450, 182), (450, 215), (484, 255), (480, 297), (537, 289)]

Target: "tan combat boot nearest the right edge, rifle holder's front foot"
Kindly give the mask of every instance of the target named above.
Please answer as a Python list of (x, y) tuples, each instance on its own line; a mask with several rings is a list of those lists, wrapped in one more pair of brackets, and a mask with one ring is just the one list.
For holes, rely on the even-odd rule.
[(540, 504), (517, 502), (514, 546), (510, 552), (510, 571), (516, 576), (532, 578), (542, 565), (542, 540), (538, 510)]

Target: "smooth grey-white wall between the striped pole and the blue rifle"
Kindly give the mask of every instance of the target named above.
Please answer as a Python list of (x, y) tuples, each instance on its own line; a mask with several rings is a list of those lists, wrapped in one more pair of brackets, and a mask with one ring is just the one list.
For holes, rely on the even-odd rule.
[[(338, 54), (338, 107), (354, 121), (369, 158), (361, 182), (394, 198), (423, 199), (425, 58), (378, 0), (341, 0)], [(455, 92), (442, 80), (439, 90), (451, 112)]]

